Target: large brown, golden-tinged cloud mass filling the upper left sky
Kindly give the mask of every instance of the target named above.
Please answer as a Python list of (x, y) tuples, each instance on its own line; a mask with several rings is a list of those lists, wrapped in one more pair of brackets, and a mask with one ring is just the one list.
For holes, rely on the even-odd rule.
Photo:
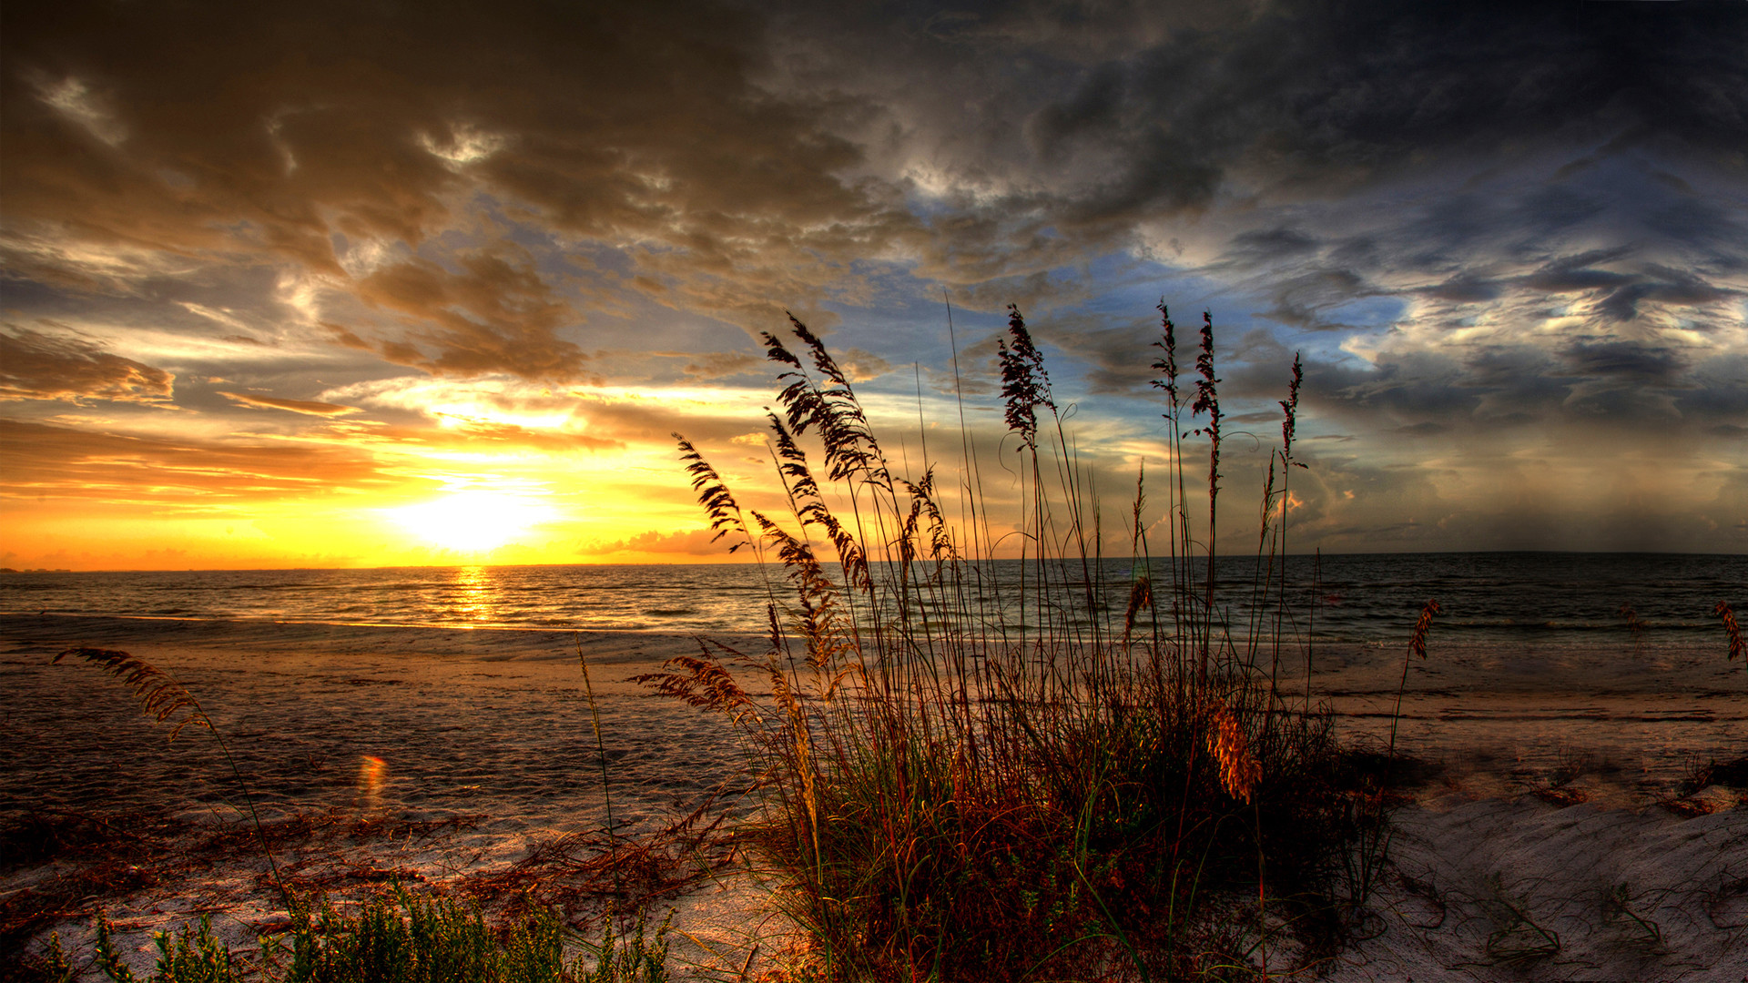
[[(678, 271), (682, 304), (752, 322), (823, 296), (848, 257), (911, 226), (836, 177), (858, 150), (808, 100), (752, 84), (759, 17), (718, 3), (93, 0), (3, 16), (9, 266), (94, 282), (72, 241), (358, 273), (372, 303), (425, 322), (378, 350), (437, 373), (577, 376), (559, 338), (577, 318), (530, 310), (528, 269), (348, 269), (336, 236), (435, 248), (484, 189)], [(446, 290), (468, 292), (465, 313), (432, 306)]]

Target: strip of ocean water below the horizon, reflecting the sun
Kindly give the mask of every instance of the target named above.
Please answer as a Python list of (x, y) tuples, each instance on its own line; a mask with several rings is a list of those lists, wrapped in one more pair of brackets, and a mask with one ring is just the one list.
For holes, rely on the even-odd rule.
[[(1017, 584), (1024, 570), (1017, 560), (988, 568), (1000, 584)], [(1169, 579), (1161, 561), (1150, 568), (1131, 560), (1101, 561), (1098, 579), (1112, 595), (1103, 602), (1106, 612), (1120, 616), (1129, 582), (1143, 570), (1155, 584)], [(1199, 582), (1203, 570), (1192, 575)], [(1243, 621), (1255, 561), (1222, 560), (1218, 577), (1220, 605)], [(1428, 598), (1442, 607), (1440, 638), (1496, 644), (1683, 642), (1718, 630), (1711, 612), (1720, 600), (1748, 610), (1748, 556), (1292, 556), (1285, 579), (1297, 631), (1337, 644), (1405, 637)], [(16, 572), (0, 574), (0, 614), (708, 635), (762, 631), (767, 584), (780, 581), (780, 570), (741, 563)], [(1634, 610), (1640, 633), (1629, 630), (1622, 605)]]

